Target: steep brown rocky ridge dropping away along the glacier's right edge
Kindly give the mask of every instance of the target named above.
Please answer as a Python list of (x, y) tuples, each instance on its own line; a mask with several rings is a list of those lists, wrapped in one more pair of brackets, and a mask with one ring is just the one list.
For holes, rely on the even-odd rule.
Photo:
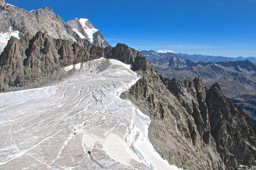
[(106, 57), (131, 64), (141, 76), (122, 95), (151, 118), (148, 138), (170, 164), (186, 169), (256, 164), (255, 125), (221, 94), (218, 84), (207, 90), (199, 77), (166, 81), (140, 52), (126, 45), (107, 51)]

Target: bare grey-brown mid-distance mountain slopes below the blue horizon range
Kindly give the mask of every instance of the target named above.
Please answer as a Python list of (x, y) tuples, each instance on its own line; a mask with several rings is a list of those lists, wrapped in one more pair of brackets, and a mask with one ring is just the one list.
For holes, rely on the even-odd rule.
[(166, 78), (193, 80), (200, 76), (207, 87), (218, 82), (223, 94), (236, 97), (256, 90), (256, 64), (250, 60), (227, 62), (192, 62), (177, 56), (150, 59), (156, 70)]

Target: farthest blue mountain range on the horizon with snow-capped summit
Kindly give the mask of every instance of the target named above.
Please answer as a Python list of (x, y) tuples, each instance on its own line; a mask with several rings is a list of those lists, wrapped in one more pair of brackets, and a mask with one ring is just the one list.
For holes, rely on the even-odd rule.
[(212, 56), (212, 55), (189, 55), (186, 53), (175, 53), (170, 50), (143, 50), (141, 51), (148, 60), (152, 59), (163, 59), (165, 57), (179, 57), (180, 59), (186, 60), (189, 59), (193, 62), (220, 62), (220, 61), (235, 61), (235, 60), (251, 60), (256, 62), (256, 57), (222, 57), (222, 56)]

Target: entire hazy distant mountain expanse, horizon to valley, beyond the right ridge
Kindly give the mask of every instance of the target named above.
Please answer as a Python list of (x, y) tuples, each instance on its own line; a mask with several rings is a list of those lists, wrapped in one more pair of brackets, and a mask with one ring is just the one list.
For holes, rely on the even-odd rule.
[[(231, 58), (218, 57), (215, 60), (210, 60), (213, 57), (205, 56), (204, 58), (204, 55), (199, 55), (201, 58), (196, 60), (200, 61), (193, 62), (189, 59), (193, 59), (197, 55), (184, 57), (185, 55), (180, 53), (159, 53), (153, 50), (141, 51), (141, 53), (148, 58), (164, 78), (183, 81), (193, 80), (196, 76), (200, 76), (208, 88), (218, 82), (223, 94), (234, 99), (238, 106), (241, 106), (254, 121), (256, 120), (256, 108), (252, 103), (248, 103), (248, 101), (252, 101), (250, 99), (255, 98), (255, 94), (252, 93), (256, 92), (256, 64), (251, 60), (223, 62), (218, 59)], [(255, 58), (253, 57), (253, 59)], [(202, 62), (203, 60), (210, 60), (210, 62)]]

